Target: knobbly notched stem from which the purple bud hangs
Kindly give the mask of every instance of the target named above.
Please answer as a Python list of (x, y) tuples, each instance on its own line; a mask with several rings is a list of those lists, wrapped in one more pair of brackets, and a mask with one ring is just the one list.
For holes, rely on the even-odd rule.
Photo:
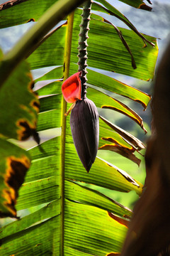
[(91, 4), (92, 1), (88, 0), (84, 3), (83, 6), (83, 12), (81, 14), (81, 23), (80, 23), (80, 33), (79, 33), (79, 70), (81, 71), (81, 99), (84, 99), (86, 97), (86, 74), (88, 73), (86, 71), (87, 67), (87, 39), (88, 31), (89, 31), (89, 23), (90, 23), (90, 16), (91, 16)]

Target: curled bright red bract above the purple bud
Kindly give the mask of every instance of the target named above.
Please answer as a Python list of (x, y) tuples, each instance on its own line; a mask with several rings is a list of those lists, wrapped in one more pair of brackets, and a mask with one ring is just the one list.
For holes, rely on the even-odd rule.
[(69, 103), (77, 102), (81, 100), (81, 72), (75, 73), (71, 77), (67, 78), (62, 84), (62, 95), (64, 99)]

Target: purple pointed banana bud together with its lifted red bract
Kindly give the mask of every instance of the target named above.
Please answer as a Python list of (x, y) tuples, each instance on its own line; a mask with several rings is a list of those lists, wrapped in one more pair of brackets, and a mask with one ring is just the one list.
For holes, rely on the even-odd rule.
[[(70, 92), (72, 92), (71, 97)], [(64, 81), (62, 93), (67, 102), (71, 102), (70, 98), (73, 99), (72, 102), (76, 102), (70, 116), (72, 137), (79, 159), (89, 172), (98, 151), (98, 110), (94, 102), (87, 97), (82, 99), (79, 92), (81, 92), (81, 80), (79, 73), (76, 73)]]

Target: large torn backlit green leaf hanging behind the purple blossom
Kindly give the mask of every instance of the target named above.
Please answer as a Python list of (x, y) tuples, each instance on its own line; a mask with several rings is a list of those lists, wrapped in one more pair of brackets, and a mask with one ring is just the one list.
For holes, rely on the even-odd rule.
[[(12, 8), (2, 9), (0, 12), (0, 21), (3, 19), (1, 28), (25, 23), (30, 18), (37, 21), (54, 1), (28, 0), (21, 1), (21, 4), (18, 2), (16, 1)], [(102, 2), (106, 4), (106, 1)], [(117, 166), (97, 157), (87, 174), (77, 156), (69, 117), (64, 117), (66, 104), (62, 98), (61, 85), (63, 78), (65, 80), (68, 74), (72, 75), (78, 69), (75, 63), (80, 14), (81, 11), (77, 9), (74, 14), (73, 30), (72, 14), (68, 23), (64, 23), (47, 40), (44, 41), (44, 36), (38, 38), (36, 47), (41, 41), (44, 42), (28, 57), (32, 69), (50, 67), (50, 70), (35, 78), (35, 89), (40, 95), (38, 131), (62, 127), (62, 133), (61, 136), (52, 134), (53, 139), (48, 139), (28, 151), (32, 157), (32, 165), (19, 191), (16, 208), (34, 210), (21, 220), (1, 228), (0, 254), (4, 256), (103, 256), (118, 253), (127, 231), (123, 221), (129, 220), (132, 211), (120, 205), (114, 198), (97, 192), (96, 186), (99, 190), (106, 188), (126, 193), (135, 191), (138, 195), (142, 193), (142, 183)], [(133, 70), (131, 57), (113, 26), (103, 23), (100, 16), (91, 17), (88, 40), (89, 66), (114, 70), (144, 80), (152, 79), (157, 59), (157, 45), (155, 48), (142, 48), (142, 38), (134, 31), (121, 28), (137, 63), (137, 69)], [(42, 18), (40, 21), (42, 22)], [(72, 38), (67, 31), (73, 32)], [(146, 38), (156, 43), (155, 38)], [(30, 54), (29, 50), (26, 56)], [(97, 107), (107, 105), (117, 109), (135, 119), (142, 127), (142, 119), (123, 102), (115, 100), (113, 95), (110, 96), (110, 93), (129, 97), (140, 102), (143, 107), (147, 107), (149, 95), (90, 69), (88, 79), (90, 88), (87, 95), (94, 100)], [(103, 94), (103, 89), (108, 91)], [(100, 132), (99, 146), (117, 144), (131, 151), (139, 151), (145, 147), (138, 139), (115, 127), (106, 119), (100, 121)], [(92, 188), (87, 188), (89, 184)], [(118, 216), (117, 220), (111, 217), (111, 213)], [(20, 214), (18, 211), (18, 215)]]

